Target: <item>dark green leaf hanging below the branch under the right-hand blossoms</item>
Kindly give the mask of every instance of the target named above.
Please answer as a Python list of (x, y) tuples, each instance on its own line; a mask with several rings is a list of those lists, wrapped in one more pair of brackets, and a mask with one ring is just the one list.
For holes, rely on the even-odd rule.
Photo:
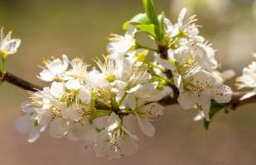
[[(211, 101), (211, 107), (210, 107), (210, 111), (209, 111), (210, 119), (212, 119), (212, 117), (214, 115), (216, 115), (216, 113), (219, 112), (220, 110), (222, 110), (223, 108), (227, 108), (227, 104), (220, 104), (216, 101)], [(211, 120), (210, 121), (207, 121), (206, 119), (204, 120), (204, 126), (205, 126), (206, 130), (208, 130), (210, 122), (211, 122)]]

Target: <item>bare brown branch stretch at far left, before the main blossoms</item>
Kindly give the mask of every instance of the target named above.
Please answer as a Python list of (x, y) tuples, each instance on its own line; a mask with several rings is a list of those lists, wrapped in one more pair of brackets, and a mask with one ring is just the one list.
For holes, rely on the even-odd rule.
[(26, 80), (18, 78), (12, 73), (0, 73), (0, 79), (2, 80), (2, 82), (10, 82), (13, 85), (16, 85), (17, 87), (21, 87), (28, 91), (36, 92), (38, 90), (43, 90), (43, 87), (37, 86), (31, 82), (27, 82)]

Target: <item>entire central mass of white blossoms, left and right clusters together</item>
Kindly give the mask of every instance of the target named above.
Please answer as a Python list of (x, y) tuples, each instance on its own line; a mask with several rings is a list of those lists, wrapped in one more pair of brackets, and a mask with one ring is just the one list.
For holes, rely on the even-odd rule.
[[(223, 82), (233, 73), (221, 76), (216, 71), (215, 50), (198, 35), (196, 16), (184, 21), (185, 13), (183, 8), (174, 25), (164, 18), (164, 40), (158, 46), (166, 48), (165, 57), (139, 45), (135, 34), (140, 31), (130, 24), (125, 35), (108, 38), (104, 61), (94, 59), (99, 69), (89, 69), (78, 57), (45, 60), (38, 78), (51, 85), (30, 92), (30, 101), (22, 105), (25, 115), (15, 123), (17, 130), (29, 133), (29, 142), (34, 142), (50, 125), (52, 137), (67, 135), (92, 145), (98, 157), (107, 153), (120, 158), (137, 150), (138, 138), (127, 129), (126, 115), (134, 115), (140, 130), (152, 137), (151, 121), (164, 114), (158, 102), (163, 97), (178, 95), (184, 109), (197, 108), (210, 120), (211, 100), (227, 103), (231, 99), (232, 91)], [(153, 62), (146, 58), (149, 51), (154, 51)]]

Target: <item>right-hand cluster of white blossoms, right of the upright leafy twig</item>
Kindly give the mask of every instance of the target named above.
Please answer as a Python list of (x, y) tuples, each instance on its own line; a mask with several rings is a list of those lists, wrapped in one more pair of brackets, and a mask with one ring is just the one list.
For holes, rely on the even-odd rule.
[[(211, 100), (227, 103), (231, 100), (232, 90), (223, 84), (225, 78), (216, 73), (215, 50), (199, 35), (196, 15), (184, 20), (186, 12), (187, 9), (183, 8), (178, 23), (174, 25), (164, 18), (168, 58), (156, 54), (156, 60), (172, 71), (173, 82), (179, 91), (179, 104), (184, 109), (197, 106), (206, 120), (210, 120)], [(234, 76), (232, 71), (229, 72), (228, 78)]]

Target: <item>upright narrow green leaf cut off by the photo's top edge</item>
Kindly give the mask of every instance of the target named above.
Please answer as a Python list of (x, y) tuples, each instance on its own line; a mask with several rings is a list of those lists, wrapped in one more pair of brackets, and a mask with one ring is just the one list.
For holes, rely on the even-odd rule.
[(145, 13), (148, 16), (150, 23), (159, 26), (159, 19), (154, 9), (153, 0), (143, 0), (143, 5), (145, 8)]

